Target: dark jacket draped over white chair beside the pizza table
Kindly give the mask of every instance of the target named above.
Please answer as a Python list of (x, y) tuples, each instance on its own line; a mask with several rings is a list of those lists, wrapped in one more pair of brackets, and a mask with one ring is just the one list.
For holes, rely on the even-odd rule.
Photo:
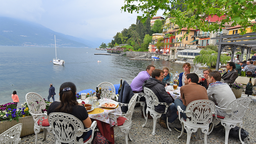
[[(131, 86), (126, 81), (124, 81), (121, 91), (120, 91), (120, 94), (118, 96), (118, 102), (128, 104), (133, 95), (134, 95), (134, 93), (132, 92)], [(122, 112), (126, 113), (127, 111), (128, 111), (128, 107), (123, 106)]]

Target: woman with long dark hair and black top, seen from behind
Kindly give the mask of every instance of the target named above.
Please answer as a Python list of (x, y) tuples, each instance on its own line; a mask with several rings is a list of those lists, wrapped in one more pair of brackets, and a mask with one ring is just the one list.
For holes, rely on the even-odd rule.
[[(76, 85), (71, 82), (61, 84), (59, 95), (60, 102), (54, 101), (50, 105), (47, 115), (53, 112), (68, 113), (81, 120), (84, 124), (84, 128), (91, 127), (92, 121), (88, 116), (86, 109), (84, 106), (78, 105), (78, 102), (76, 101)], [(83, 138), (85, 141), (91, 134), (92, 131), (89, 131), (88, 133), (84, 132), (81, 137), (77, 138), (77, 140)]]

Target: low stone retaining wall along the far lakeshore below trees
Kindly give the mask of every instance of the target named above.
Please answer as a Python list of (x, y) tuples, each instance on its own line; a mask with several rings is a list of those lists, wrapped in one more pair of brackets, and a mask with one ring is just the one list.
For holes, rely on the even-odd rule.
[(162, 55), (162, 54), (157, 54), (157, 53), (148, 53), (148, 52), (126, 52), (126, 56), (128, 57), (139, 57), (139, 56), (145, 56), (146, 59), (151, 59), (151, 56), (158, 56), (160, 59), (170, 59), (169, 55)]

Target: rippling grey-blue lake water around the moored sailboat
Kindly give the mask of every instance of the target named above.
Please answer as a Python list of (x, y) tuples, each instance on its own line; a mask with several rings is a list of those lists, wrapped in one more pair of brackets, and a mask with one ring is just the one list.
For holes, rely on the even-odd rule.
[(36, 92), (47, 99), (50, 84), (55, 87), (55, 100), (59, 100), (59, 88), (64, 82), (76, 84), (77, 92), (96, 89), (101, 82), (120, 84), (120, 79), (131, 84), (150, 64), (159, 69), (168, 67), (172, 73), (183, 72), (180, 64), (166, 60), (130, 60), (126, 56), (94, 53), (107, 51), (57, 48), (57, 56), (65, 60), (65, 65), (61, 66), (51, 62), (55, 58), (54, 47), (0, 46), (0, 105), (12, 102), (13, 91), (19, 96), (18, 105), (26, 101), (28, 92)]

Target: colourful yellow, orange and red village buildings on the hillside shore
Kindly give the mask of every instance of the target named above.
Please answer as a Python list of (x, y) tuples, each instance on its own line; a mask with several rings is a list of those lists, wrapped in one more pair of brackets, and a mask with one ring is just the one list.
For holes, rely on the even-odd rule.
[[(150, 20), (150, 26), (153, 27), (156, 20), (165, 20), (162, 28), (163, 33), (154, 33), (152, 34), (151, 43), (148, 45), (148, 52), (150, 53), (158, 53), (163, 55), (169, 55), (170, 60), (181, 60), (181, 61), (192, 61), (195, 59), (199, 52), (206, 47), (207, 45), (218, 45), (220, 41), (218, 38), (221, 34), (223, 35), (234, 35), (240, 33), (240, 28), (242, 26), (237, 25), (232, 27), (232, 23), (226, 23), (222, 30), (219, 29), (218, 32), (211, 32), (211, 31), (202, 31), (200, 29), (189, 29), (182, 28), (181, 31), (178, 30), (179, 26), (172, 23), (171, 20), (173, 17), (168, 17), (166, 20), (163, 17), (153, 17)], [(210, 15), (205, 18), (205, 21), (211, 23), (220, 23), (222, 18), (215, 15)], [(250, 20), (252, 25), (256, 23), (256, 19)], [(251, 25), (251, 26), (252, 26)], [(252, 33), (251, 26), (246, 28), (246, 33)], [(186, 35), (187, 36), (184, 36)], [(215, 39), (213, 39), (215, 38)], [(161, 41), (159, 41), (161, 40)], [(164, 46), (160, 48), (156, 47), (157, 43), (164, 43)], [(107, 48), (109, 52), (114, 50), (124, 50), (125, 48), (120, 48), (123, 45), (127, 44), (120, 44), (116, 45), (113, 48)], [(223, 50), (222, 54), (226, 54), (231, 56), (230, 48), (226, 48)], [(235, 54), (234, 59), (240, 60), (241, 52)], [(250, 56), (250, 55), (249, 55)]]

